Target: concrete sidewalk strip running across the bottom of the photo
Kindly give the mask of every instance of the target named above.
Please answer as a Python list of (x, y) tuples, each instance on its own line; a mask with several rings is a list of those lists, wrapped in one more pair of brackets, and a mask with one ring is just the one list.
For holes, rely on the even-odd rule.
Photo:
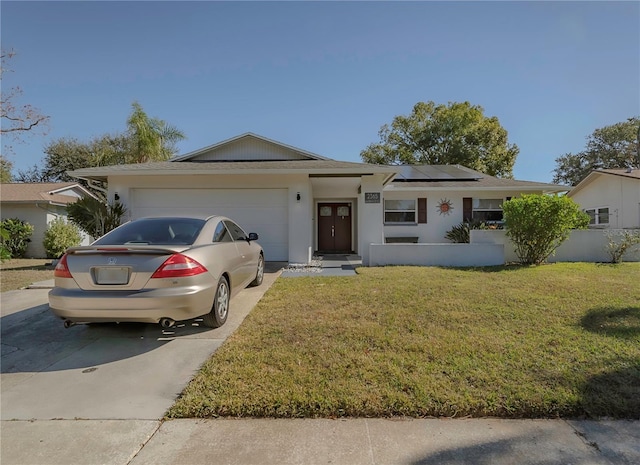
[(3, 465), (640, 463), (640, 422), (52, 420), (3, 422)]

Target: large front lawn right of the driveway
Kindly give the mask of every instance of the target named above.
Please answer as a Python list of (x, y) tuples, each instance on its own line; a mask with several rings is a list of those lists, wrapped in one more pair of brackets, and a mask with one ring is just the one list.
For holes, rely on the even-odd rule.
[(167, 416), (637, 419), (639, 282), (637, 263), (279, 279)]

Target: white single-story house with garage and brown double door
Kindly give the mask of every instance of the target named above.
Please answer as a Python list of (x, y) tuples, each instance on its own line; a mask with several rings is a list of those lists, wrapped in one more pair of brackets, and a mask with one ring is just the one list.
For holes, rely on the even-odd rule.
[[(521, 193), (553, 184), (497, 179), (460, 166), (382, 166), (325, 158), (255, 134), (167, 162), (76, 170), (108, 182), (130, 218), (225, 215), (260, 235), (268, 261), (306, 263), (312, 252), (357, 253), (385, 238), (447, 242), (465, 217), (499, 221)], [(400, 239), (398, 239), (400, 238)]]

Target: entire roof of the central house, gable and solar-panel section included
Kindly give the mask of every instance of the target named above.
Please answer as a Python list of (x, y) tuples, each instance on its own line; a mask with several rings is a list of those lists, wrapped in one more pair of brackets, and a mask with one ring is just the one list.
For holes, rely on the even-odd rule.
[(332, 160), (245, 133), (165, 162), (103, 166), (71, 171), (81, 179), (105, 182), (109, 176), (207, 175), (207, 174), (308, 174), (339, 177), (382, 174), (384, 185), (397, 190), (519, 189), (564, 192), (569, 188), (512, 179), (499, 179), (460, 165), (373, 165)]

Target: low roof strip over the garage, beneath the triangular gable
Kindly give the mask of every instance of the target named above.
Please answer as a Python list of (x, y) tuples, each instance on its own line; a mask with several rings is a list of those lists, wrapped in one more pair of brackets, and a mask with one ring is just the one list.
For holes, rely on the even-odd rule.
[(352, 163), (330, 159), (323, 160), (284, 160), (284, 161), (164, 161), (138, 163), (132, 165), (102, 166), (84, 168), (69, 172), (77, 178), (106, 181), (108, 176), (141, 176), (161, 174), (296, 174), (311, 176), (340, 174), (387, 174), (392, 177), (397, 173), (396, 167)]

